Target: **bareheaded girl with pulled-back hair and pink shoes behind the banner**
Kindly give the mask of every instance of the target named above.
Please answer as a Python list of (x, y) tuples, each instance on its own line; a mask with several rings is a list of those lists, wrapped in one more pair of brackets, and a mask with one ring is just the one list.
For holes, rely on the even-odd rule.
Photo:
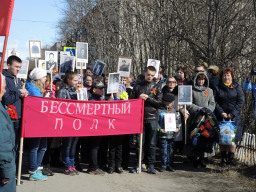
[[(58, 92), (57, 98), (77, 100), (77, 84), (78, 76), (75, 72), (66, 73), (63, 79), (63, 87)], [(64, 174), (78, 175), (75, 168), (76, 145), (79, 137), (63, 137), (62, 138), (62, 162), (64, 164)]]

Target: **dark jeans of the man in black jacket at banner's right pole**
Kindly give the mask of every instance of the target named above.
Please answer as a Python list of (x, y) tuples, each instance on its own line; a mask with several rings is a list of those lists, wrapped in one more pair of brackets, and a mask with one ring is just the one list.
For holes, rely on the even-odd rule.
[[(142, 161), (147, 165), (154, 165), (156, 161), (157, 119), (144, 119), (142, 139)], [(137, 138), (140, 141), (140, 135)], [(145, 159), (144, 159), (145, 154)], [(137, 145), (137, 157), (139, 155), (139, 142)]]

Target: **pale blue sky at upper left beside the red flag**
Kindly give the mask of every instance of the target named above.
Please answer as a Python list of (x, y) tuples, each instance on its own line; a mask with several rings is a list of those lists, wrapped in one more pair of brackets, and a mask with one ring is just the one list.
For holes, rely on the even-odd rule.
[[(63, 0), (15, 0), (8, 37), (8, 49), (29, 57), (29, 40), (41, 41), (41, 47), (58, 41), (57, 22), (61, 19)], [(2, 49), (4, 38), (0, 38)], [(6, 58), (7, 58), (6, 50)]]

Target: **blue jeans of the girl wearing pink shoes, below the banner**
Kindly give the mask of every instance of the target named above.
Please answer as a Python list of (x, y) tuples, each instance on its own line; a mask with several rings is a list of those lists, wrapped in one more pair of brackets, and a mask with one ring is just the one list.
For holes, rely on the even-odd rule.
[(64, 167), (69, 168), (75, 165), (76, 145), (79, 137), (62, 138), (62, 162)]

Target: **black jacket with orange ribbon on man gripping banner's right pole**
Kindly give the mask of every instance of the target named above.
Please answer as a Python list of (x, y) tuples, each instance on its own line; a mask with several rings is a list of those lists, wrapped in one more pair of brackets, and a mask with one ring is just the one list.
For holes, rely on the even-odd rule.
[(144, 119), (157, 119), (157, 110), (162, 103), (161, 87), (154, 81), (149, 83), (144, 80), (134, 86), (131, 99), (138, 99), (142, 93), (149, 96), (144, 105)]

